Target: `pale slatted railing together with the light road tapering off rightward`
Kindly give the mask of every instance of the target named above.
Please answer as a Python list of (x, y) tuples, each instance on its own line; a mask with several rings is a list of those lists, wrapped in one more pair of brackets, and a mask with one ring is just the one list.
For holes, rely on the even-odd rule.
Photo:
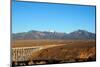
[(29, 61), (30, 58), (32, 57), (32, 53), (35, 51), (56, 47), (56, 46), (62, 46), (62, 45), (65, 44), (12, 48), (12, 61)]

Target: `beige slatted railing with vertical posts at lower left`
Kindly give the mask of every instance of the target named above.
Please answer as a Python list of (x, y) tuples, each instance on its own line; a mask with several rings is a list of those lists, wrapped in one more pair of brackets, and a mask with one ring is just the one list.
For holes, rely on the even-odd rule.
[(28, 61), (37, 49), (34, 47), (12, 48), (12, 61)]

